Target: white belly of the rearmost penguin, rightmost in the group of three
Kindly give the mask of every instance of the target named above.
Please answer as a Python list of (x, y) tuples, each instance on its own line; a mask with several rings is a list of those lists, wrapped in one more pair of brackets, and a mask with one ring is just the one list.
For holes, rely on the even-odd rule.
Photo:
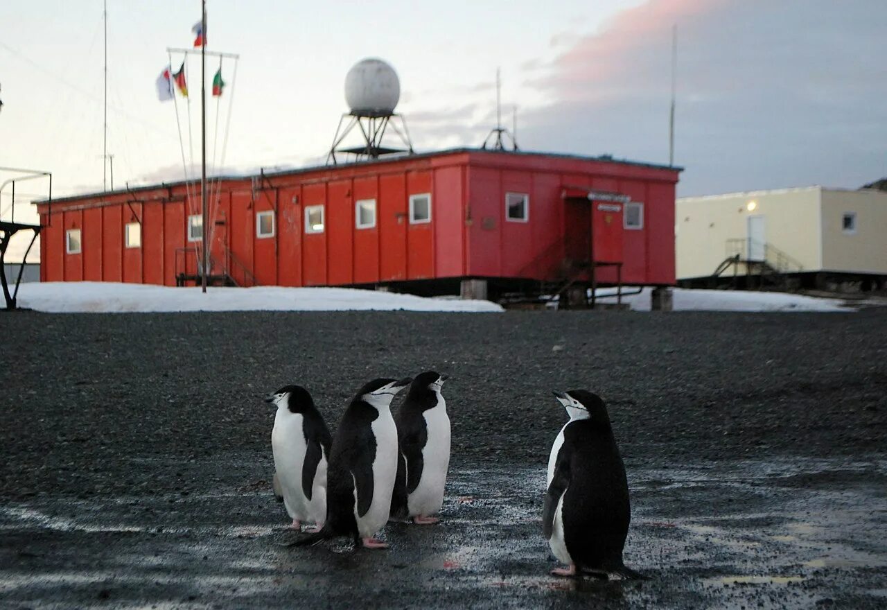
[(437, 406), (422, 413), (428, 433), (422, 448), (422, 472), (419, 485), (407, 497), (410, 516), (428, 517), (441, 510), (446, 473), (450, 467), (450, 418), (443, 397)]

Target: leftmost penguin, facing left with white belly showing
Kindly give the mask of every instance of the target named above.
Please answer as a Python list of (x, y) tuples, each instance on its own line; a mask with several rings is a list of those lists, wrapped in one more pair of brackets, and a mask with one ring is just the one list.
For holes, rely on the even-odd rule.
[(294, 529), (301, 528), (302, 521), (319, 528), (326, 519), (330, 431), (304, 387), (281, 387), (265, 402), (277, 407), (271, 431), (275, 495), (279, 491)]

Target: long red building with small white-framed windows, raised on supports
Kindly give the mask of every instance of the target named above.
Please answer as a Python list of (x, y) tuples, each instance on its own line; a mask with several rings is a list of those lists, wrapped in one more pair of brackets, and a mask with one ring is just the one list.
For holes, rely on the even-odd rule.
[[(491, 296), (547, 283), (673, 285), (679, 168), (459, 149), (223, 178), (209, 278)], [(42, 281), (199, 280), (200, 188), (37, 204)], [(480, 282), (476, 280), (481, 280)]]

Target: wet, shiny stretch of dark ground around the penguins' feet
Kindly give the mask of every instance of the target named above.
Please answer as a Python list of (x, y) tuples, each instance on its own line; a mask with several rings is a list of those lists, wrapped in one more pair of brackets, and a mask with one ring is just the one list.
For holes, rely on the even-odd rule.
[[(242, 458), (242, 457), (240, 457)], [(12, 607), (883, 606), (887, 462), (737, 461), (627, 469), (626, 564), (644, 583), (559, 579), (541, 536), (543, 468), (456, 469), (443, 522), (391, 523), (389, 551), (307, 549), (250, 472), (203, 494), (38, 496), (0, 506)], [(246, 458), (243, 458), (246, 460)], [(216, 458), (216, 464), (217, 464)], [(248, 463), (248, 460), (247, 462)], [(199, 469), (200, 464), (194, 465)], [(227, 481), (227, 480), (224, 480)]]

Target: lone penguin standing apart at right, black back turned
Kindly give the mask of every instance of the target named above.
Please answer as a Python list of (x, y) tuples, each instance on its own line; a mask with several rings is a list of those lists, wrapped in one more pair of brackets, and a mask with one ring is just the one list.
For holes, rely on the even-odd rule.
[(546, 493), (543, 531), (554, 556), (569, 566), (552, 574), (644, 578), (622, 561), (632, 516), (625, 467), (607, 407), (600, 396), (585, 390), (554, 395), (587, 415), (563, 427)]

